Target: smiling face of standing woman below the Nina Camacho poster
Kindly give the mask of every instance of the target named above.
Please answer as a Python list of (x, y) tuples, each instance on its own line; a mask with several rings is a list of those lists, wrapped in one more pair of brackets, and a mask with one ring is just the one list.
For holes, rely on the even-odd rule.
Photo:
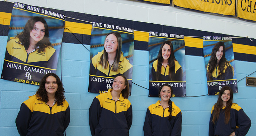
[(47, 77), (44, 87), (46, 90), (46, 94), (48, 96), (55, 95), (56, 91), (58, 90), (58, 84), (57, 84), (56, 78), (53, 76)]

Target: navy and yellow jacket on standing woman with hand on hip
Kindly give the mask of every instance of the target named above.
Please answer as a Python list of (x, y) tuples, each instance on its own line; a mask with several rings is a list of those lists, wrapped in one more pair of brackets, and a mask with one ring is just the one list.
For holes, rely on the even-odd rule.
[(225, 124), (225, 114), (223, 107), (220, 110), (220, 116), (215, 124), (212, 123), (214, 106), (212, 106), (211, 118), (209, 123), (209, 136), (228, 136), (235, 132), (236, 136), (245, 136), (251, 127), (250, 118), (244, 113), (244, 110), (236, 103), (232, 103), (230, 109), (230, 119), (228, 124)]

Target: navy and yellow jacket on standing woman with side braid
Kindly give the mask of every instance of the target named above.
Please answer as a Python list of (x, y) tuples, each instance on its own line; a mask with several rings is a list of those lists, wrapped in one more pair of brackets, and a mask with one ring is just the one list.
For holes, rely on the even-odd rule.
[(169, 108), (160, 101), (148, 107), (143, 126), (144, 136), (180, 136), (182, 116), (180, 108), (172, 102), (172, 120), (168, 120)]

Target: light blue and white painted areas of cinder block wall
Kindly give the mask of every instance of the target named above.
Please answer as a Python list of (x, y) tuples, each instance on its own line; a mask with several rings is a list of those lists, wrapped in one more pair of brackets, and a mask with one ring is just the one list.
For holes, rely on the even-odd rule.
[[(256, 38), (256, 24), (236, 18), (216, 16), (173, 6), (160, 6), (132, 0), (17, 0), (17, 2), (60, 9), (90, 13), (93, 15), (149, 22), (167, 26), (177, 26), (215, 33)], [(7, 36), (0, 36), (1, 72), (6, 49)], [(90, 48), (90, 45), (85, 45)], [(62, 71), (65, 96), (70, 105), (71, 121), (66, 130), (67, 136), (90, 136), (88, 123), (89, 107), (98, 94), (88, 93), (90, 52), (81, 44), (62, 43), (57, 74)], [(237, 61), (237, 81), (255, 71), (256, 63)], [(149, 64), (148, 51), (134, 50), (132, 82), (148, 88)], [(256, 73), (250, 75), (256, 77)], [(186, 55), (187, 96), (208, 94), (204, 69), (204, 58)], [(0, 135), (18, 136), (15, 118), (20, 104), (35, 94), (37, 86), (0, 79)], [(256, 134), (256, 88), (246, 87), (245, 79), (238, 82), (238, 92), (234, 102), (241, 106), (252, 120), (247, 136)], [(147, 107), (159, 98), (148, 97), (148, 90), (132, 84), (132, 96), (128, 98), (133, 107), (131, 136), (143, 136), (143, 123)], [(182, 136), (206, 136), (210, 110), (217, 96), (172, 98), (182, 111)]]

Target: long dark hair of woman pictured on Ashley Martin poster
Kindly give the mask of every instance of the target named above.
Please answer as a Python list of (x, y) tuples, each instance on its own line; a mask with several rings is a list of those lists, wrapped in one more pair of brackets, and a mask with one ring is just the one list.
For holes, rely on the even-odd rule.
[[(161, 68), (162, 68), (162, 62), (164, 60), (164, 58), (162, 57), (162, 49), (164, 47), (164, 45), (167, 44), (170, 46), (171, 48), (171, 56), (168, 58), (168, 65), (169, 65), (169, 80), (173, 81), (174, 80), (174, 74), (175, 74), (175, 56), (174, 56), (174, 51), (173, 51), (173, 45), (172, 42), (170, 41), (165, 41), (162, 43), (158, 55), (157, 55), (157, 68), (156, 68), (156, 80), (158, 81), (159, 76), (161, 74)], [(177, 60), (176, 60), (177, 61)]]

